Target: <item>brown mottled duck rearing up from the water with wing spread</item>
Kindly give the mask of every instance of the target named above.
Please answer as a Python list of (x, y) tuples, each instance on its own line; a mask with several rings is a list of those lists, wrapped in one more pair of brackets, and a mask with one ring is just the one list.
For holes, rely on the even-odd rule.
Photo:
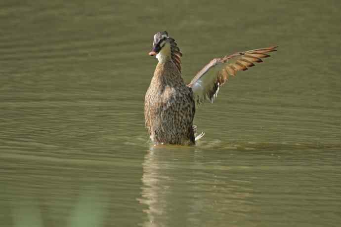
[(154, 144), (191, 146), (204, 136), (197, 135), (193, 119), (197, 107), (215, 100), (219, 88), (230, 76), (246, 71), (270, 57), (278, 46), (236, 52), (214, 58), (189, 83), (181, 75), (182, 53), (167, 31), (154, 35), (150, 56), (158, 59), (144, 99), (145, 126)]

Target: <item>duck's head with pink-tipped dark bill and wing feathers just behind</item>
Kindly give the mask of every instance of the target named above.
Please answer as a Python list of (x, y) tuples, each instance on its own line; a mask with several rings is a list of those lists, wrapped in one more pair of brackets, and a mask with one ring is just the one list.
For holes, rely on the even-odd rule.
[(176, 67), (181, 71), (180, 57), (182, 53), (175, 40), (168, 36), (168, 33), (158, 32), (154, 35), (153, 49), (149, 52), (150, 56), (155, 56), (159, 62), (163, 62), (165, 59), (171, 58)]

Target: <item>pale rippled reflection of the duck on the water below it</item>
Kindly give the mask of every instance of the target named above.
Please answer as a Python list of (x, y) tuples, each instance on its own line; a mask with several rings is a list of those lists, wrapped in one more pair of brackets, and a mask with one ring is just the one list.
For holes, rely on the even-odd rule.
[(148, 205), (148, 222), (143, 226), (219, 226), (226, 224), (218, 221), (226, 216), (245, 219), (253, 209), (251, 182), (232, 176), (235, 167), (206, 157), (197, 148), (147, 151), (140, 202)]

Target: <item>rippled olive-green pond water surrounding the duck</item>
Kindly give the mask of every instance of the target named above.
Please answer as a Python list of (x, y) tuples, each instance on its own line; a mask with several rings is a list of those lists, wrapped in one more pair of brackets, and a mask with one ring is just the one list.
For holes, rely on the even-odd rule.
[[(341, 223), (341, 4), (1, 1), (0, 225)], [(186, 81), (279, 45), (197, 111), (195, 147), (153, 146), (144, 93), (167, 30)]]

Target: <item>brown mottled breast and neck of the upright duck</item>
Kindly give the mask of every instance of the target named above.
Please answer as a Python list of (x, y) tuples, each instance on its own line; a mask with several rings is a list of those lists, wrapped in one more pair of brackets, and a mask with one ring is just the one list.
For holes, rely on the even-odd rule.
[[(195, 144), (193, 92), (181, 77), (180, 58), (175, 57), (177, 61), (173, 62), (171, 55), (179, 54), (173, 53), (171, 45), (163, 49), (160, 54), (164, 56), (159, 59), (145, 96), (146, 127), (153, 142), (192, 145)], [(179, 48), (176, 52), (180, 53)]]

